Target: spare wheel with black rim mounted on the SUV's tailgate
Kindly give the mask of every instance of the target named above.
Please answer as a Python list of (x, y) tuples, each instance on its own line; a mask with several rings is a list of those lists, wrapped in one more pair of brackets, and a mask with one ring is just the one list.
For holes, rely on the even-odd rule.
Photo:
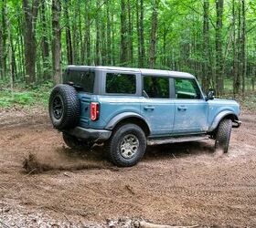
[(56, 129), (76, 127), (80, 117), (80, 100), (76, 89), (64, 84), (53, 88), (49, 97), (48, 112)]

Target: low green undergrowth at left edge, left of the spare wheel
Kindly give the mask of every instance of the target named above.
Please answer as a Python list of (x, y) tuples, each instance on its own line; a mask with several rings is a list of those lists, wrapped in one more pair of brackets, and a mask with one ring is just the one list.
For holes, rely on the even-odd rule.
[(13, 92), (5, 83), (0, 83), (0, 108), (10, 109), (42, 107), (48, 106), (48, 97), (53, 83), (51, 81), (42, 84), (27, 86), (25, 84), (16, 84)]

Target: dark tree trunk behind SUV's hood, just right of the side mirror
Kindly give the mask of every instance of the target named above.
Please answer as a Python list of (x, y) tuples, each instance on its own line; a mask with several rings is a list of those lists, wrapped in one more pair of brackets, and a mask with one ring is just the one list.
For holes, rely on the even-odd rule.
[(216, 92), (221, 96), (223, 80), (223, 53), (222, 53), (222, 17), (224, 0), (216, 0)]

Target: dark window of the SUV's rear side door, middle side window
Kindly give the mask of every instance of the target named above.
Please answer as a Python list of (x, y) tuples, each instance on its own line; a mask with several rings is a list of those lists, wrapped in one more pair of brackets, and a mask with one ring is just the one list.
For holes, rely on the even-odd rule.
[(169, 78), (144, 77), (144, 94), (149, 98), (169, 98)]

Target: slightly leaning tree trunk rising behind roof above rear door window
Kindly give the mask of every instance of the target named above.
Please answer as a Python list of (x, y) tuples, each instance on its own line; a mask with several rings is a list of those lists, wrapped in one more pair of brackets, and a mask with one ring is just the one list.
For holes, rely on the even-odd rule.
[(149, 67), (150, 68), (155, 67), (158, 5), (159, 5), (159, 0), (154, 0), (152, 5), (153, 13), (152, 13), (152, 19), (151, 19), (151, 35), (150, 35), (150, 48), (149, 48)]

